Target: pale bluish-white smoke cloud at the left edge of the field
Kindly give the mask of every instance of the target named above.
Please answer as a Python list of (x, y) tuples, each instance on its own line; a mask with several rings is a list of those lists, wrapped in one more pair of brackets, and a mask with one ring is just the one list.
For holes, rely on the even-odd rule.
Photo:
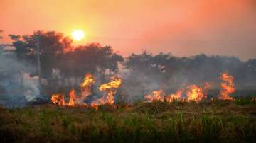
[(15, 55), (0, 53), (0, 104), (17, 107), (39, 97), (38, 77), (30, 76), (35, 68), (18, 61)]

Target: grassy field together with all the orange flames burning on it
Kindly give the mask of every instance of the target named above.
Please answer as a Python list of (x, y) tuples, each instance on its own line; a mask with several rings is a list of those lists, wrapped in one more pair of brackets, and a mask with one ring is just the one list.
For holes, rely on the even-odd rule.
[[(205, 82), (133, 103), (116, 102), (119, 77), (93, 89), (96, 81), (86, 74), (79, 90), (53, 93), (47, 105), (0, 108), (0, 142), (255, 142), (256, 100), (233, 98), (226, 72), (216, 96)], [(93, 90), (102, 96), (87, 101)]]

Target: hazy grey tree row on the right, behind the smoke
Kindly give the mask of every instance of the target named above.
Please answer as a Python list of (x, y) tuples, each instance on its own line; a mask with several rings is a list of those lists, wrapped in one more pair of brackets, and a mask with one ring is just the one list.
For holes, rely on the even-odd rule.
[[(155, 87), (146, 84), (142, 88), (176, 88), (183, 84), (200, 84), (204, 81), (218, 82), (221, 72), (228, 71), (235, 77), (237, 87), (252, 86), (256, 81), (256, 60), (242, 62), (238, 57), (195, 55), (174, 57), (170, 53), (151, 55), (149, 52), (130, 55), (124, 62), (129, 69), (127, 79), (133, 79), (144, 85), (153, 82)], [(136, 85), (139, 85), (137, 83)], [(132, 83), (131, 83), (132, 84)], [(216, 85), (217, 87), (218, 85)], [(256, 86), (256, 84), (254, 84)]]

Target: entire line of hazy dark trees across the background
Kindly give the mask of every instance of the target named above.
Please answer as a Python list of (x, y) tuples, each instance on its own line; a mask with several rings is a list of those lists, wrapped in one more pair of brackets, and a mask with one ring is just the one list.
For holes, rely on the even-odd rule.
[[(119, 74), (124, 79), (127, 91), (130, 88), (139, 88), (143, 93), (146, 88), (169, 89), (178, 88), (184, 83), (218, 81), (223, 71), (233, 75), (240, 88), (256, 87), (256, 59), (243, 62), (238, 57), (204, 54), (176, 57), (163, 52), (153, 55), (146, 50), (123, 57), (114, 52), (111, 46), (102, 46), (99, 43), (74, 47), (72, 39), (55, 31), (36, 31), (32, 35), (9, 37), (13, 40), (14, 47), (11, 52), (9, 50), (9, 55), (15, 55), (18, 61), (32, 67), (37, 66), (39, 56), (41, 78), (46, 79), (48, 86), (53, 88), (56, 87), (56, 81), (64, 83), (61, 80), (79, 79), (86, 73), (93, 74), (102, 81)], [(1, 51), (4, 50), (6, 48), (1, 47)], [(1, 55), (3, 53), (0, 52)], [(1, 79), (6, 75), (0, 70)], [(38, 76), (38, 70), (34, 70), (31, 76)]]

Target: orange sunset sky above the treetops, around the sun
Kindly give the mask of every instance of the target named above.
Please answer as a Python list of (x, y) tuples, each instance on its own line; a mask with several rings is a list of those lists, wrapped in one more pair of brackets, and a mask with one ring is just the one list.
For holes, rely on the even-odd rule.
[(256, 58), (255, 0), (0, 0), (0, 29), (26, 35), (84, 30), (74, 45), (100, 42), (127, 56), (148, 50), (175, 56)]

